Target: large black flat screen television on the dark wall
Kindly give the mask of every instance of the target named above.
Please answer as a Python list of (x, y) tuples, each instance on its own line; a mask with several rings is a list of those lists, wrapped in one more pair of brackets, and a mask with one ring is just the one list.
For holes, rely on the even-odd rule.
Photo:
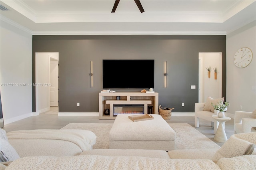
[(154, 59), (104, 59), (103, 89), (154, 88)]

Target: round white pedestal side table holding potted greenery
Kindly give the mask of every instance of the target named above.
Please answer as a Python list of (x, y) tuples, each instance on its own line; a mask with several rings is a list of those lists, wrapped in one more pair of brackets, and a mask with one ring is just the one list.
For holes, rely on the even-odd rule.
[(226, 121), (229, 121), (231, 118), (226, 117), (226, 116), (224, 118), (220, 118), (217, 115), (213, 115), (212, 117), (213, 117), (213, 119), (215, 119), (216, 121), (218, 121), (220, 123), (216, 130), (214, 140), (216, 140), (218, 142), (226, 142), (226, 140), (228, 140), (228, 138), (227, 138), (223, 123)]

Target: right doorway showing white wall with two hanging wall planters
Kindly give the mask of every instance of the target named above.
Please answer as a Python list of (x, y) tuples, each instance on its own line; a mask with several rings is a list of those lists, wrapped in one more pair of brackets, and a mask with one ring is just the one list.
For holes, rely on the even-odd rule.
[[(222, 53), (198, 54), (198, 103), (206, 102), (208, 96), (222, 97)], [(206, 67), (211, 67), (210, 77)], [(214, 77), (216, 71), (216, 79)]]

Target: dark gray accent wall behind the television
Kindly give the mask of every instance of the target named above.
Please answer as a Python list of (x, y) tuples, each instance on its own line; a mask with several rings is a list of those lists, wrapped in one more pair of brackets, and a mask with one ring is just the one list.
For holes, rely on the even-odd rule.
[[(35, 83), (36, 52), (59, 52), (59, 112), (98, 112), (98, 93), (102, 90), (102, 59), (154, 59), (154, 91), (159, 93), (159, 105), (174, 107), (173, 112), (194, 112), (194, 103), (198, 102), (198, 53), (222, 52), (222, 97), (226, 98), (226, 36), (33, 36), (32, 83)], [(92, 88), (90, 61), (93, 61)], [(164, 88), (164, 61), (168, 63), (167, 88)], [(132, 69), (132, 66), (117, 65), (116, 69)], [(116, 79), (118, 81), (118, 77)], [(190, 89), (190, 85), (196, 85), (196, 89)], [(35, 112), (34, 87), (32, 95)], [(78, 102), (80, 107), (76, 106)], [(185, 103), (184, 107), (181, 106), (182, 102)]]

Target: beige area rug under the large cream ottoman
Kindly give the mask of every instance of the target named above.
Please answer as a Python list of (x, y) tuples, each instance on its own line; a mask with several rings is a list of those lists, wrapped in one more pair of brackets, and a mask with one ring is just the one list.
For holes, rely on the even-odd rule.
[[(85, 129), (97, 136), (94, 149), (108, 149), (108, 134), (112, 123), (70, 123), (62, 129)], [(220, 146), (187, 123), (169, 123), (176, 132), (175, 149), (218, 149)]]

